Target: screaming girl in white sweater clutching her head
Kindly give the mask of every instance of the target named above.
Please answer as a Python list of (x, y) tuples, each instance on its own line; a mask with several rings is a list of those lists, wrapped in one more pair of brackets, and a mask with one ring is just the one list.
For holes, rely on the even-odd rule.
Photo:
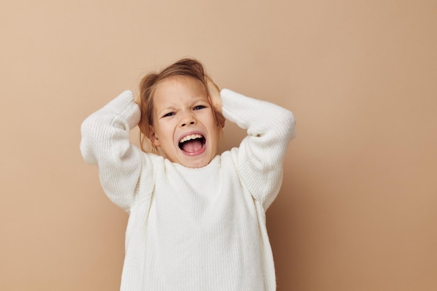
[[(292, 113), (218, 91), (193, 59), (145, 76), (138, 103), (124, 91), (91, 114), (80, 144), (129, 213), (121, 291), (276, 290), (265, 211), (281, 187)], [(248, 135), (216, 155), (224, 118)], [(129, 142), (137, 125), (143, 151)]]

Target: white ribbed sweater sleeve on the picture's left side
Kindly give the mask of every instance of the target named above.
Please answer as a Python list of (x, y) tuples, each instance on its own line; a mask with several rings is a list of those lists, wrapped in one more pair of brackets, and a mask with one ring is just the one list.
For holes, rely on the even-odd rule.
[(131, 91), (91, 114), (81, 126), (80, 150), (87, 163), (98, 166), (103, 191), (128, 211), (141, 170), (140, 149), (129, 141), (129, 130), (140, 120)]

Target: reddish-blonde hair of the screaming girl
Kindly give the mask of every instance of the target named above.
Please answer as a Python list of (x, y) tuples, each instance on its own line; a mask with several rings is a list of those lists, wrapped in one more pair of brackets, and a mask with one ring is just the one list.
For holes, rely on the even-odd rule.
[[(200, 81), (200, 84), (208, 92), (207, 87), (207, 73), (200, 61), (196, 59), (180, 59), (174, 64), (168, 66), (161, 70), (161, 72), (149, 73), (142, 78), (140, 82), (140, 100), (138, 100), (138, 105), (140, 105), (141, 118), (138, 123), (140, 128), (140, 145), (142, 151), (151, 151), (155, 154), (160, 154), (158, 149), (151, 144), (149, 140), (150, 126), (153, 126), (153, 110), (154, 110), (154, 94), (156, 87), (163, 80), (174, 76), (184, 76), (192, 77), (195, 80)], [(209, 94), (209, 92), (208, 92)], [(218, 112), (214, 110), (214, 116), (216, 120), (223, 120), (223, 118), (218, 117)], [(224, 122), (217, 122), (218, 128), (223, 128)]]

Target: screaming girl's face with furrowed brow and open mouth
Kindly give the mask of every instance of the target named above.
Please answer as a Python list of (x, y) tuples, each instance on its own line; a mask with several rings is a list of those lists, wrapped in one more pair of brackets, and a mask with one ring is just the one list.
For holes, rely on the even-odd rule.
[(150, 140), (173, 163), (204, 167), (216, 156), (219, 128), (208, 94), (192, 77), (157, 85)]

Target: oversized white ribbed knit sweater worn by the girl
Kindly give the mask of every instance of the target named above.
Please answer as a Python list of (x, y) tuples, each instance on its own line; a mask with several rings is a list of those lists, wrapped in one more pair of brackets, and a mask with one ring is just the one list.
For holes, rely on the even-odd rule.
[(202, 168), (129, 142), (140, 111), (124, 91), (82, 124), (80, 149), (112, 202), (129, 212), (121, 291), (272, 291), (265, 211), (281, 187), (292, 113), (228, 89), (223, 116), (247, 129)]

